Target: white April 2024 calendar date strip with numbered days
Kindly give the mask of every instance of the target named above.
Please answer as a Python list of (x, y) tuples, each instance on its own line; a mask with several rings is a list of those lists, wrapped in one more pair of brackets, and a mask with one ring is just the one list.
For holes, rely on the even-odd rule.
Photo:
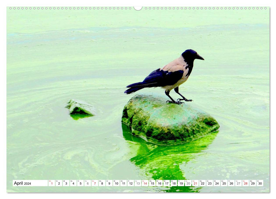
[(13, 180), (13, 186), (263, 186), (263, 180)]

